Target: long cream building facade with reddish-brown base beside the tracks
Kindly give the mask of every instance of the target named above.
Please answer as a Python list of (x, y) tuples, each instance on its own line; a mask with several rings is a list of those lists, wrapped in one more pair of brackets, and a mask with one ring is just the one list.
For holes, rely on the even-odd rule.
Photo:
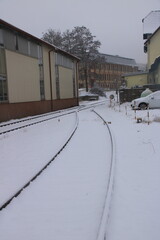
[(78, 105), (78, 61), (0, 19), (0, 121)]

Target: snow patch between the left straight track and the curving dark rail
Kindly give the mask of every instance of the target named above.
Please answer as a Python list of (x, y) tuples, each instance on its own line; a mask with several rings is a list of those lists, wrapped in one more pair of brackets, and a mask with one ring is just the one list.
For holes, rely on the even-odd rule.
[(51, 160), (70, 136), (75, 122), (74, 113), (0, 136), (0, 205)]

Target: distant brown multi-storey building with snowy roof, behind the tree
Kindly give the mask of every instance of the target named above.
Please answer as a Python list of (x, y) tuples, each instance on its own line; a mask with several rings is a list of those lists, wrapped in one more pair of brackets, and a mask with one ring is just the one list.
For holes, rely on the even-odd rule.
[[(105, 89), (116, 89), (123, 84), (121, 75), (138, 71), (138, 66), (134, 59), (120, 57), (118, 55), (100, 54), (103, 61), (92, 65), (89, 69), (89, 87), (98, 85)], [(85, 77), (79, 75), (79, 87), (85, 87)]]

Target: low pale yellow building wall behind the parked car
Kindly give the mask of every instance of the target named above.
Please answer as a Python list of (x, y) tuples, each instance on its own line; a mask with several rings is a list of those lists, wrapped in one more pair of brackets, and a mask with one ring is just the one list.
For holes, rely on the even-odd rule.
[(127, 87), (131, 88), (134, 86), (142, 86), (147, 84), (147, 74), (140, 74), (135, 76), (127, 76), (125, 77), (127, 81)]

